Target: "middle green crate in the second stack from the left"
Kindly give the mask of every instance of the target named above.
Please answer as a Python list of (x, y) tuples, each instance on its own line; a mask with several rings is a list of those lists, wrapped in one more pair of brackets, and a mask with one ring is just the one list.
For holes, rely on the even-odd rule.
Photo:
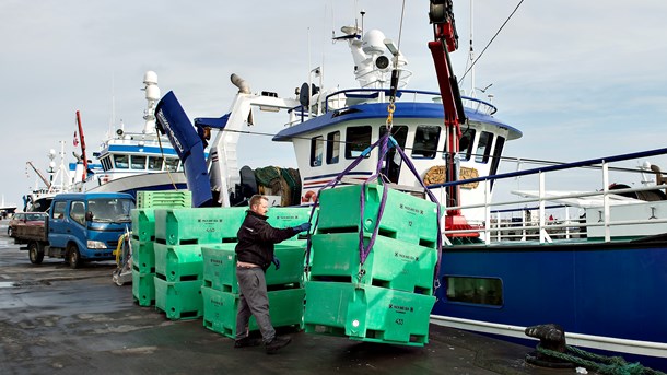
[(201, 247), (220, 248), (226, 244), (164, 245), (155, 243), (155, 273), (166, 281), (202, 280)]

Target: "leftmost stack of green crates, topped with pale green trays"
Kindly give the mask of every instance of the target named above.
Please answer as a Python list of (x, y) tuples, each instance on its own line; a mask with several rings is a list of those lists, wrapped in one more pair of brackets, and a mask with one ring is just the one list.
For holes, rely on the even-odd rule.
[(132, 210), (132, 297), (140, 306), (155, 304), (155, 209), (192, 206), (190, 191), (138, 191)]

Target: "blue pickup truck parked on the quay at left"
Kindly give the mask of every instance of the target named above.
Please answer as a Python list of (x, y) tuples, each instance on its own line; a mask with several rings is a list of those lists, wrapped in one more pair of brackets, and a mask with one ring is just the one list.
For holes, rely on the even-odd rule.
[(14, 243), (27, 245), (31, 262), (65, 258), (71, 268), (84, 261), (115, 259), (118, 238), (131, 230), (134, 198), (121, 192), (72, 192), (54, 198), (45, 225), (19, 225)]

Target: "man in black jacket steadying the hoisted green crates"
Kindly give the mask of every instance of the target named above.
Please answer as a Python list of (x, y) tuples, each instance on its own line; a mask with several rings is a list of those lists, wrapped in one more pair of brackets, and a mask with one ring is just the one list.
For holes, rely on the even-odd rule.
[(246, 213), (238, 233), (236, 244), (236, 279), (241, 290), (238, 312), (236, 314), (236, 340), (234, 348), (254, 347), (259, 340), (248, 338), (248, 321), (255, 316), (257, 326), (265, 342), (267, 354), (285, 347), (290, 337), (276, 336), (269, 316), (269, 298), (265, 273), (271, 262), (276, 269), (280, 261), (273, 255), (273, 244), (288, 239), (301, 232), (309, 231), (311, 223), (283, 230), (274, 228), (267, 223), (269, 201), (267, 197), (255, 195), (250, 198), (250, 209)]

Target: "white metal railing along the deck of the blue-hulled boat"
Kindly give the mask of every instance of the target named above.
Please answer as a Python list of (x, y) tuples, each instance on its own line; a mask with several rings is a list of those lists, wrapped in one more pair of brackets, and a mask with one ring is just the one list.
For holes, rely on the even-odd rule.
[[(448, 236), (479, 233), (480, 238), (487, 244), (506, 239), (538, 241), (540, 244), (552, 243), (553, 239), (571, 238), (604, 242), (611, 242), (612, 237), (628, 239), (646, 235), (641, 234), (637, 228), (651, 227), (653, 230), (648, 232), (658, 234), (667, 232), (660, 230), (667, 223), (667, 215), (664, 212), (667, 201), (663, 194), (667, 186), (656, 184), (664, 178), (662, 175), (657, 175), (659, 172), (656, 174), (648, 166), (623, 167), (623, 163), (666, 154), (667, 149), (656, 149), (431, 185), (429, 188), (440, 194), (441, 203), (444, 204), (445, 210), (461, 210), (464, 215), (466, 212), (475, 211), (478, 213), (478, 218), (481, 211), (483, 220), (478, 223), (479, 225), (471, 225), (467, 230), (445, 231), (444, 234)], [(582, 174), (582, 171), (585, 173)], [(632, 178), (627, 179), (630, 174), (632, 174)], [(639, 181), (637, 174), (642, 174), (641, 186), (610, 184), (612, 178), (617, 179), (621, 176), (625, 178), (621, 180)], [(648, 180), (647, 175), (655, 175), (655, 180)], [(567, 179), (576, 181), (577, 188), (561, 188), (561, 190), (547, 188), (547, 180), (551, 186), (560, 188), (563, 180)], [(499, 189), (510, 190), (511, 185), (519, 184), (517, 181), (524, 186), (524, 189), (513, 189), (512, 191), (518, 198), (502, 197), (504, 199), (491, 201), (491, 186), (493, 186), (493, 194), (498, 195)], [(471, 183), (478, 183), (478, 188), (483, 189), (481, 201), (447, 206), (445, 199), (447, 187), (465, 184), (469, 186)], [(663, 184), (665, 183), (663, 181)], [(586, 185), (593, 185), (597, 189), (582, 191), (581, 187)], [(526, 186), (534, 189), (526, 189)], [(652, 198), (629, 198), (632, 196), (642, 198), (647, 195), (651, 195)], [(644, 211), (637, 216), (633, 212), (629, 214), (630, 209)]]

